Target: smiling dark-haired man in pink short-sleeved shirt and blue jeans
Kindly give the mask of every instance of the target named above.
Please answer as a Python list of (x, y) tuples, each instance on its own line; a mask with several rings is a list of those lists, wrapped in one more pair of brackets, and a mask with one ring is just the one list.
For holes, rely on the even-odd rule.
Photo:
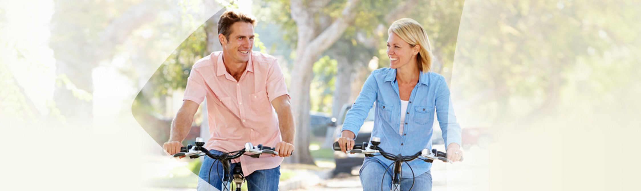
[[(211, 138), (204, 147), (212, 154), (236, 151), (247, 142), (275, 147), (278, 157), (241, 156), (232, 160), (231, 168), (242, 167), (249, 190), (278, 190), (280, 164), (294, 151), (294, 120), (276, 58), (251, 50), (255, 24), (252, 15), (237, 10), (221, 15), (218, 38), (222, 51), (194, 63), (183, 105), (163, 149), (169, 154), (180, 152), (194, 114), (206, 98)], [(205, 190), (205, 183), (222, 190), (222, 172), (220, 162), (204, 158), (197, 190)]]

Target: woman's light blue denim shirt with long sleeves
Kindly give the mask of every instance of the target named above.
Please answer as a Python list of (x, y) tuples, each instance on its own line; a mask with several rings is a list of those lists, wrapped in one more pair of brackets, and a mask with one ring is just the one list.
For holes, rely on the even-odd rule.
[[(351, 110), (347, 112), (342, 130), (352, 131), (356, 135), (374, 103), (376, 112), (372, 137), (381, 138), (379, 147), (387, 153), (413, 155), (423, 148), (431, 149), (435, 110), (445, 146), (451, 143), (461, 145), (461, 127), (454, 116), (449, 88), (440, 74), (420, 72), (419, 82), (410, 94), (407, 110), (401, 111), (396, 69), (382, 68), (373, 71)], [(399, 134), (401, 112), (406, 112), (403, 135)], [(386, 166), (393, 163), (383, 156), (374, 158)], [(409, 163), (415, 176), (428, 172), (431, 167), (431, 163), (422, 160)], [(411, 178), (412, 172), (407, 164), (403, 163), (402, 167), (403, 178)]]

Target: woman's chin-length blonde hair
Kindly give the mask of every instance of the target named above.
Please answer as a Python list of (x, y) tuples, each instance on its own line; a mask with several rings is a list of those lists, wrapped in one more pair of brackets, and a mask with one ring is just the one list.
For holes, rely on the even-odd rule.
[(431, 47), (429, 46), (428, 33), (420, 26), (419, 22), (408, 18), (399, 19), (392, 23), (387, 33), (395, 33), (412, 47), (419, 45), (419, 54), (416, 56), (417, 65), (420, 71), (429, 71), (432, 64)]

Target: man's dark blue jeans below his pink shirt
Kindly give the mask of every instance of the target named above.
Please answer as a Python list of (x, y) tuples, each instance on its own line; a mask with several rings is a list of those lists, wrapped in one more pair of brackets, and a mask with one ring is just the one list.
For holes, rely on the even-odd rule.
[[(216, 151), (216, 150), (210, 150), (210, 153), (222, 154), (221, 151)], [(229, 183), (228, 188), (222, 189), (222, 181), (221, 181), (223, 179), (222, 163), (219, 161), (215, 161), (212, 158), (209, 158), (208, 156), (201, 156), (201, 157), (204, 157), (204, 160), (203, 160), (203, 165), (201, 166), (200, 172), (198, 173), (198, 176), (201, 179), (198, 181), (197, 190), (198, 191), (215, 190), (215, 189), (212, 189), (210, 185), (212, 185), (213, 188), (216, 188), (218, 190), (227, 190), (228, 188), (229, 190), (231, 190), (231, 183)], [(213, 164), (213, 167), (212, 167), (212, 164)], [(238, 163), (231, 163), (229, 170), (233, 170), (236, 165), (238, 165)], [(210, 172), (210, 168), (212, 169), (211, 172)], [(254, 190), (277, 191), (278, 179), (280, 178), (280, 166), (274, 169), (256, 170), (249, 175), (245, 174), (245, 178), (247, 179), (247, 189), (249, 191), (254, 191)], [(210, 185), (207, 185), (207, 181), (209, 181)]]

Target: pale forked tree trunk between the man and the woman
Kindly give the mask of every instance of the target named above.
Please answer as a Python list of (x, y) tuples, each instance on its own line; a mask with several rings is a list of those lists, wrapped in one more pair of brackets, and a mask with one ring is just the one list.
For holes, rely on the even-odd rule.
[(354, 20), (354, 8), (360, 0), (349, 0), (342, 11), (341, 17), (332, 22), (319, 35), (315, 35), (317, 21), (314, 15), (329, 1), (306, 3), (300, 0), (291, 1), (292, 18), (296, 22), (298, 38), (296, 46), (296, 61), (292, 71), (290, 94), (292, 96), (292, 112), (296, 124), (296, 150), (287, 162), (313, 164), (314, 160), (309, 151), (310, 145), (310, 83), (312, 83), (312, 66), (319, 55), (328, 49)]

